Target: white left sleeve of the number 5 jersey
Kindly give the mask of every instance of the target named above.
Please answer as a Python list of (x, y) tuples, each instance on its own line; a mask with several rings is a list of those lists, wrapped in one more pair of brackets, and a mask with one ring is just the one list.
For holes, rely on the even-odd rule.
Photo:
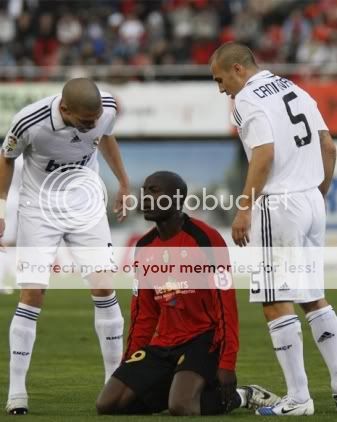
[(254, 103), (239, 100), (233, 109), (240, 138), (245, 147), (253, 149), (274, 142), (273, 130), (264, 110)]

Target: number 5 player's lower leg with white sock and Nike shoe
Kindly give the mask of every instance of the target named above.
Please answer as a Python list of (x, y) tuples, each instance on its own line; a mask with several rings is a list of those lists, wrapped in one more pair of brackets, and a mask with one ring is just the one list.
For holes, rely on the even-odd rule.
[(301, 323), (292, 302), (263, 304), (274, 350), (287, 384), (287, 396), (274, 407), (263, 407), (257, 414), (306, 415), (313, 414), (314, 407), (308, 389), (304, 368)]

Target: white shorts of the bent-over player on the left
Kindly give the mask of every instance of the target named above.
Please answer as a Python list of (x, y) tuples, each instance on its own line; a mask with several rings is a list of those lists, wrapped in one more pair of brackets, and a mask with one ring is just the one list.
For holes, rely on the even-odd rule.
[(19, 212), (17, 283), (48, 286), (62, 240), (82, 277), (113, 268), (111, 233), (106, 214), (84, 232), (63, 232), (41, 214)]

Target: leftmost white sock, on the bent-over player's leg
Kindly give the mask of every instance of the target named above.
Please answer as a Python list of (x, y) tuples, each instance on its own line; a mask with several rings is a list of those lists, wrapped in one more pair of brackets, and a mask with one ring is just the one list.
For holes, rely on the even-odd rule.
[(41, 309), (19, 303), (9, 329), (8, 398), (27, 395), (26, 376), (36, 337), (36, 321)]

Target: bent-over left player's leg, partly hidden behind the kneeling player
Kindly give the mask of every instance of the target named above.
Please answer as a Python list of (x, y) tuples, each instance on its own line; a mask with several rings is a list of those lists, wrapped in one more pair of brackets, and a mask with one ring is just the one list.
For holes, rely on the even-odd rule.
[(93, 273), (88, 279), (92, 287), (95, 330), (102, 351), (106, 383), (122, 359), (124, 319), (115, 291), (108, 288), (111, 285), (111, 273)]

